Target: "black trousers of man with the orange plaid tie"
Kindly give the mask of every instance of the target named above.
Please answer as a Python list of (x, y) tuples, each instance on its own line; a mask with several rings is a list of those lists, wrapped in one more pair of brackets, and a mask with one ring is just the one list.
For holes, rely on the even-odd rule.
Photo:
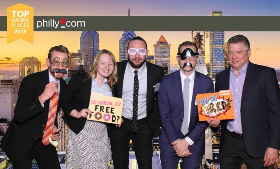
[(40, 169), (60, 169), (56, 149), (49, 144), (44, 146), (39, 138), (30, 151), (22, 159), (13, 161), (15, 169), (30, 169), (32, 160), (35, 159)]

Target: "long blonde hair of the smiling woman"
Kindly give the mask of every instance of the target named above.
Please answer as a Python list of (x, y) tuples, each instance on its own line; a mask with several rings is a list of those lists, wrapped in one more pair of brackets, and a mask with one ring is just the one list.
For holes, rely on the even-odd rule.
[(86, 72), (86, 74), (88, 76), (88, 79), (92, 79), (92, 78), (96, 77), (96, 75), (97, 75), (97, 65), (99, 63), (100, 56), (104, 53), (108, 54), (110, 56), (110, 58), (112, 59), (113, 63), (114, 63), (114, 69), (113, 69), (111, 75), (109, 75), (107, 77), (107, 84), (110, 86), (110, 89), (113, 90), (113, 86), (118, 81), (118, 72), (117, 72), (117, 62), (116, 62), (114, 54), (111, 51), (109, 51), (107, 49), (100, 50), (96, 54), (96, 56), (94, 58), (94, 62), (92, 64), (92, 66), (90, 67), (90, 70), (88, 72)]

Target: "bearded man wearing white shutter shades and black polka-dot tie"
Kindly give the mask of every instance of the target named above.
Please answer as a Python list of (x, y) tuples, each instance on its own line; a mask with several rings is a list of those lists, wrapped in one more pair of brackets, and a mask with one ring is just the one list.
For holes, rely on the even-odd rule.
[(132, 140), (138, 168), (152, 169), (153, 136), (160, 134), (157, 90), (163, 68), (146, 61), (147, 43), (137, 36), (127, 46), (128, 60), (117, 63), (118, 82), (114, 97), (123, 98), (123, 123), (110, 129), (114, 169), (129, 165), (129, 141)]

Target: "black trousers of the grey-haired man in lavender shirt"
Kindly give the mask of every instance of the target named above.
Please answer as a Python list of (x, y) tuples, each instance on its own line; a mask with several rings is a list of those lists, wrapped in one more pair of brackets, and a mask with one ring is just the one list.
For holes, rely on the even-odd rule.
[(226, 130), (226, 138), (223, 151), (219, 154), (221, 169), (240, 169), (243, 160), (248, 169), (260, 169), (263, 167), (264, 157), (252, 158), (246, 152), (243, 137)]

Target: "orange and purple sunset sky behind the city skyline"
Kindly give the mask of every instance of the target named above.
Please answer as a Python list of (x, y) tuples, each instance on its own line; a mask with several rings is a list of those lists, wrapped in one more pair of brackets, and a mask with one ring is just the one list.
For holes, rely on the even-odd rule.
[[(0, 16), (7, 15), (7, 7), (23, 3), (34, 7), (36, 16), (126, 16), (130, 6), (131, 16), (206, 16), (212, 10), (222, 10), (223, 16), (279, 16), (280, 1), (54, 1), (39, 2), (35, 0), (16, 1), (1, 0)], [(114, 6), (112, 5), (114, 4)], [(162, 23), (164, 26), (168, 23)], [(239, 23), (232, 23), (239, 24)], [(261, 23), (260, 23), (261, 24)], [(112, 25), (114, 26), (114, 25)], [(147, 25), (149, 26), (149, 25)], [(176, 26), (176, 25), (174, 25)], [(269, 25), (267, 25), (269, 26)], [(242, 27), (242, 25), (240, 25)], [(94, 31), (94, 30), (93, 30)], [(119, 56), (119, 39), (122, 32), (98, 31), (100, 49), (108, 49)], [(161, 35), (171, 44), (171, 64), (176, 65), (178, 45), (191, 40), (191, 32), (135, 32), (147, 41), (149, 54), (154, 54), (153, 44)], [(46, 64), (48, 50), (63, 44), (70, 52), (80, 49), (81, 32), (34, 32), (34, 44), (16, 40), (7, 44), (7, 32), (0, 32), (0, 70), (19, 70), (18, 63), (24, 57), (36, 57), (42, 65)], [(195, 32), (194, 32), (195, 34)], [(225, 32), (225, 41), (236, 34), (247, 36), (250, 41), (253, 63), (280, 69), (280, 32)], [(46, 66), (42, 67), (44, 70)]]

